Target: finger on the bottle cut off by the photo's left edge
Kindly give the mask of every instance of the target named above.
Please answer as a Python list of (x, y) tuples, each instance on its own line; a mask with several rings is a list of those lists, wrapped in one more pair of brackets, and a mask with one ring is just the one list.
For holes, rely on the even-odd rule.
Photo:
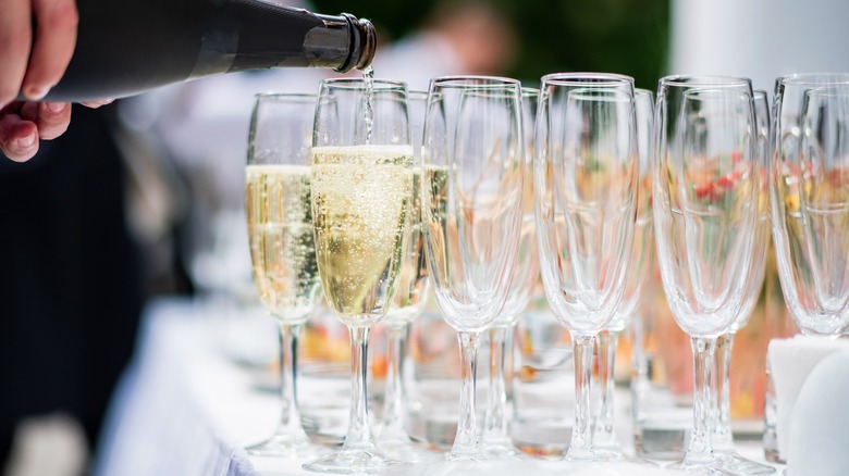
[(0, 109), (12, 102), (29, 61), (33, 43), (32, 7), (29, 0), (0, 0)]

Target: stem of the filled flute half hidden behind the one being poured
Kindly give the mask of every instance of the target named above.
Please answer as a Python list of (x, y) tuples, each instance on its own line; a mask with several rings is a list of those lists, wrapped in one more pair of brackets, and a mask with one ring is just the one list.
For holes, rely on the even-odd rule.
[(381, 438), (407, 438), (404, 429), (404, 356), (409, 324), (386, 327), (386, 383), (383, 393), (383, 429)]

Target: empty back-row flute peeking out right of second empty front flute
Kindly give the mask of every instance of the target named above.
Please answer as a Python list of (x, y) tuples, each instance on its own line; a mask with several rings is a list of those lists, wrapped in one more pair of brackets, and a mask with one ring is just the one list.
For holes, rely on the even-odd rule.
[[(635, 114), (637, 120), (637, 150), (639, 153), (640, 181), (638, 188), (637, 222), (631, 245), (631, 265), (625, 284), (616, 315), (607, 327), (599, 333), (599, 380), (601, 402), (599, 416), (592, 433), (592, 447), (600, 460), (625, 460), (625, 453), (614, 433), (615, 381), (613, 378), (616, 361), (616, 345), (619, 333), (628, 327), (631, 317), (642, 298), (649, 263), (654, 260), (654, 234), (652, 230), (651, 184), (654, 175), (653, 162), (649, 151), (652, 122), (654, 120), (654, 99), (648, 89), (635, 89)], [(631, 462), (648, 463), (645, 460), (628, 459)]]

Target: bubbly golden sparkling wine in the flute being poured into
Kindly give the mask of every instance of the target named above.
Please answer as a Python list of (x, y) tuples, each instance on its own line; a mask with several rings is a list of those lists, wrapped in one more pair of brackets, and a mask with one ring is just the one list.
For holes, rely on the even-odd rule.
[(389, 310), (410, 211), (409, 146), (312, 149), (312, 211), (324, 297), (347, 325)]

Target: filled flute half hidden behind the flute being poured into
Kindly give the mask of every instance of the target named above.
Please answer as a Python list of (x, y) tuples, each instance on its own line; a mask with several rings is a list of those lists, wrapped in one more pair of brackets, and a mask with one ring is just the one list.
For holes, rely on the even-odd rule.
[(427, 459), (427, 453), (413, 444), (404, 427), (407, 414), (405, 385), (407, 337), (410, 323), (421, 314), (428, 301), (430, 279), (424, 259), (424, 230), (421, 225), (421, 139), (424, 129), (426, 91), (409, 91), (409, 118), (413, 134), (413, 198), (408, 215), (409, 236), (404, 248), (403, 264), (395, 299), (383, 325), (386, 328), (386, 381), (383, 390), (383, 422), (377, 444), (387, 456), (406, 463)]

